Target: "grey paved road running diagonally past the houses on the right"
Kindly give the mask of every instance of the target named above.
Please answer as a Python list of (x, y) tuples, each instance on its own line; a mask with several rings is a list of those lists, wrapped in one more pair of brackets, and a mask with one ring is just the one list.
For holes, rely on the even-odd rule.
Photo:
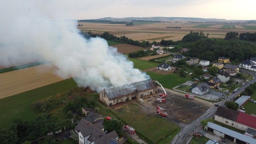
[[(242, 86), (240, 90), (236, 91), (235, 93), (232, 93), (226, 100), (223, 102), (218, 102), (218, 104), (223, 105), (226, 101), (229, 101), (234, 98), (234, 96), (237, 96), (242, 91), (244, 91), (244, 88), (246, 86), (249, 86), (250, 84), (254, 83), (256, 81), (256, 73), (251, 72), (248, 70), (240, 70), (241, 72), (246, 72), (252, 76), (254, 76), (255, 79), (251, 80), (246, 84), (245, 86)], [(204, 114), (202, 114), (197, 120), (194, 120), (190, 124), (187, 124), (180, 130), (180, 132), (176, 135), (176, 137), (170, 142), (170, 144), (183, 144), (186, 143), (187, 138), (190, 136), (190, 132), (193, 132), (196, 128), (200, 127), (200, 121), (205, 118), (213, 117), (218, 107), (209, 108)]]

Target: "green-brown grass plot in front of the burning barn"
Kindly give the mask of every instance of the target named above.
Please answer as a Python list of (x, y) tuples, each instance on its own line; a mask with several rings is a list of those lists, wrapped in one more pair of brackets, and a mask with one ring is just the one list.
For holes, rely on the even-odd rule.
[[(163, 140), (157, 143), (166, 144), (176, 135), (176, 131), (180, 130), (178, 126), (161, 116), (144, 113), (138, 104), (131, 103), (115, 108), (113, 111), (123, 114), (124, 116), (119, 118), (135, 128), (136, 132), (140, 132), (154, 143), (162, 138)], [(165, 140), (168, 134), (170, 134), (170, 137), (168, 137), (170, 139)]]

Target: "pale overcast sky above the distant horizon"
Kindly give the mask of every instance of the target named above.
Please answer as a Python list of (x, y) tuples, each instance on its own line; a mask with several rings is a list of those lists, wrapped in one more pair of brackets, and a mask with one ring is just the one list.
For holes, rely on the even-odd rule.
[(150, 16), (256, 20), (254, 0), (41, 0), (38, 4), (49, 16), (64, 12), (63, 17), (79, 20)]

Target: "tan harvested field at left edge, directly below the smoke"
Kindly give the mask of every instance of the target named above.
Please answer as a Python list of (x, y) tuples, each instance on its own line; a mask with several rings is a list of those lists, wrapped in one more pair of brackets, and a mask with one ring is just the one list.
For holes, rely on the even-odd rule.
[(0, 74), (0, 98), (63, 80), (52, 74), (54, 69), (51, 64), (43, 64)]

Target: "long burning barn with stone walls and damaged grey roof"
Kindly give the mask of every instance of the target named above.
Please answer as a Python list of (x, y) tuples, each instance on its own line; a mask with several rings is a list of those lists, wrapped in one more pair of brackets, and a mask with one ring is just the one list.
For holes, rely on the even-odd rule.
[(132, 84), (104, 89), (100, 92), (100, 100), (105, 102), (108, 106), (112, 106), (119, 102), (126, 102), (153, 93), (157, 93), (157, 86), (153, 79), (148, 79)]

